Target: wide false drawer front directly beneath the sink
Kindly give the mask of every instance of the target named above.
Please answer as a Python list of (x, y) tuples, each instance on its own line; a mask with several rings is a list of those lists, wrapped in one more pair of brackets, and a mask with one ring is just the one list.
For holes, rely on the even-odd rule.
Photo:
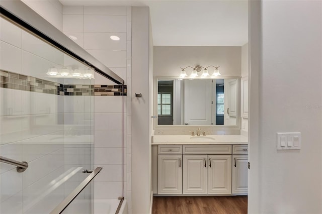
[(184, 145), (183, 154), (231, 154), (231, 145)]

